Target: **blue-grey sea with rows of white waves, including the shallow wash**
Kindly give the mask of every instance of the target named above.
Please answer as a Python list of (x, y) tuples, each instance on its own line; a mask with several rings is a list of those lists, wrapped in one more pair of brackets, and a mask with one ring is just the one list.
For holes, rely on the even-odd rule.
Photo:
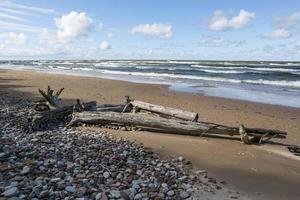
[(3, 60), (0, 69), (165, 84), (180, 92), (300, 108), (300, 62)]

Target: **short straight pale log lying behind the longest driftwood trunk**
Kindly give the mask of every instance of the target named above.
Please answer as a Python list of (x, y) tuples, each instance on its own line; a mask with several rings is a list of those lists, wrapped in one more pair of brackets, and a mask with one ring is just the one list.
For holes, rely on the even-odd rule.
[(137, 101), (137, 100), (131, 100), (130, 104), (133, 107), (138, 109), (143, 109), (154, 113), (160, 113), (178, 119), (184, 119), (184, 120), (189, 120), (194, 122), (198, 120), (198, 113), (194, 113), (194, 112), (184, 111), (184, 110), (170, 108), (161, 105), (150, 104), (147, 102)]

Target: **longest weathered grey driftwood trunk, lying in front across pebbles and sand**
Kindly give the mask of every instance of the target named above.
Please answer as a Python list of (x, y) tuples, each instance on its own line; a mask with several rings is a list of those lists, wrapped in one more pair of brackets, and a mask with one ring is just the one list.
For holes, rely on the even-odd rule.
[[(248, 138), (252, 136), (254, 138), (263, 137), (277, 137), (285, 138), (286, 132), (278, 130), (266, 130), (266, 129), (253, 129), (244, 128), (243, 126), (229, 127), (220, 124), (207, 123), (207, 122), (190, 122), (176, 119), (164, 119), (164, 118), (153, 118), (144, 115), (136, 115), (132, 113), (115, 113), (115, 112), (81, 112), (73, 113), (72, 120), (68, 126), (74, 126), (78, 123), (87, 124), (109, 124), (118, 123), (122, 125), (132, 125), (141, 127), (150, 127), (161, 129), (164, 131), (203, 136), (210, 134), (217, 135), (238, 135), (241, 136), (242, 141), (249, 144), (251, 141)], [(247, 138), (247, 139), (246, 139)]]

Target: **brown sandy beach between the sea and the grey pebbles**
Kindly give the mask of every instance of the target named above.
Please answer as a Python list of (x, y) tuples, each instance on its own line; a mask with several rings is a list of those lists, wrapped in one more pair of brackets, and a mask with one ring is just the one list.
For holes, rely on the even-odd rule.
[(200, 120), (246, 127), (279, 129), (287, 139), (263, 145), (244, 145), (238, 138), (121, 132), (109, 133), (153, 148), (163, 156), (184, 156), (195, 168), (224, 180), (253, 199), (297, 199), (300, 196), (300, 157), (286, 145), (300, 145), (300, 109), (170, 91), (165, 85), (137, 84), (32, 71), (0, 70), (0, 90), (36, 99), (38, 88), (64, 87), (67, 103), (76, 98), (101, 103), (121, 103), (125, 95), (155, 104), (198, 112)]

